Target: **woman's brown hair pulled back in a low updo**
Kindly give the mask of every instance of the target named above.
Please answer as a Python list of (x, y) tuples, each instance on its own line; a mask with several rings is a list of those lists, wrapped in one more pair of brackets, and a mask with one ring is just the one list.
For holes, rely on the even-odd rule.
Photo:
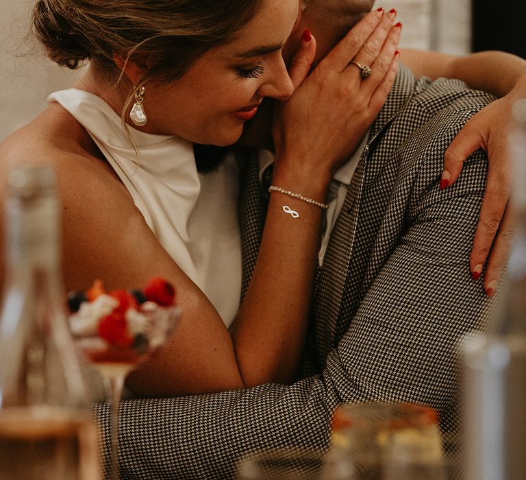
[(53, 62), (86, 61), (121, 75), (113, 53), (149, 56), (142, 79), (177, 80), (208, 49), (224, 45), (258, 12), (262, 0), (38, 0), (34, 34)]

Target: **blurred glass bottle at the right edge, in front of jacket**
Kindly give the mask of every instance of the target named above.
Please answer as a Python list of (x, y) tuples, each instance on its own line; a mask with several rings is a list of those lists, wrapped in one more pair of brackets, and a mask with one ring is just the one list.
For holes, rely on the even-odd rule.
[(467, 480), (526, 478), (526, 100), (514, 117), (512, 254), (487, 333), (461, 345)]

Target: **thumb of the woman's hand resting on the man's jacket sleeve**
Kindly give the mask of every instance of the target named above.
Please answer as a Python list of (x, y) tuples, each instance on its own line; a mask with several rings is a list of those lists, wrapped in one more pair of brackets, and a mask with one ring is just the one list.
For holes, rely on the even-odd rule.
[(484, 147), (486, 147), (486, 142), (479, 134), (477, 123), (473, 119), (468, 120), (444, 154), (444, 171), (440, 179), (440, 189), (443, 190), (455, 183), (466, 158), (475, 150)]

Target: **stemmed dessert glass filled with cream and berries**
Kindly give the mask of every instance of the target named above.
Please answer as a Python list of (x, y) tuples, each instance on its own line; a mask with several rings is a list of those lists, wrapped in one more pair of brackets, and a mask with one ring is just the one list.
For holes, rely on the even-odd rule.
[[(164, 344), (175, 328), (178, 317), (177, 307), (161, 307), (154, 302), (145, 302), (134, 313), (127, 313), (126, 325), (118, 324), (117, 320), (114, 322), (114, 341), (108, 339), (112, 335), (101, 337), (100, 328), (92, 328), (93, 325), (86, 326), (86, 315), (83, 318), (82, 309), (70, 317), (69, 326), (75, 345), (101, 374), (106, 397), (111, 405), (112, 480), (118, 479), (118, 407), (121, 403), (125, 378), (140, 362), (145, 361)], [(90, 320), (92, 324), (95, 323), (94, 318)], [(129, 338), (126, 335), (129, 335)], [(126, 341), (123, 341), (123, 338)]]

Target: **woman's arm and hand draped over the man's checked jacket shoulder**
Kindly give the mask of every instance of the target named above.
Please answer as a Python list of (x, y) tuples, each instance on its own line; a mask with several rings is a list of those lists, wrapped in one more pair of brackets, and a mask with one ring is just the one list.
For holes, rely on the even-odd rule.
[(416, 76), (459, 78), (472, 88), (500, 97), (468, 121), (453, 140), (444, 156), (441, 182), (442, 188), (452, 185), (462, 171), (464, 160), (478, 148), (486, 150), (488, 181), (470, 268), (476, 281), (488, 260), (484, 288), (493, 296), (511, 248), (512, 222), (506, 211), (512, 184), (508, 132), (513, 128), (513, 104), (517, 99), (526, 98), (526, 60), (501, 51), (455, 57), (410, 49), (401, 51), (401, 59)]

